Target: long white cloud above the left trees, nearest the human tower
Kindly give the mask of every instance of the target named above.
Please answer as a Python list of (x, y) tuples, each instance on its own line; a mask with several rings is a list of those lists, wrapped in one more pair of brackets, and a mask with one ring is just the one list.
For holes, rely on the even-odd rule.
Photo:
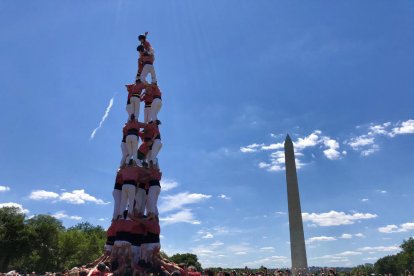
[(45, 190), (35, 190), (30, 193), (29, 198), (33, 200), (53, 199), (71, 204), (85, 204), (87, 202), (95, 204), (109, 204), (109, 202), (105, 202), (102, 199), (96, 198), (86, 193), (84, 189), (73, 190), (71, 192), (63, 192), (61, 194)]

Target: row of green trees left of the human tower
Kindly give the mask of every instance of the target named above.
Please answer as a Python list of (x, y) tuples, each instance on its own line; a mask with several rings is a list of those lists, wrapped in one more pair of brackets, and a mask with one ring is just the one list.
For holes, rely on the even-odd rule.
[(106, 232), (88, 222), (65, 228), (49, 215), (27, 218), (14, 207), (0, 208), (0, 272), (62, 271), (97, 259)]

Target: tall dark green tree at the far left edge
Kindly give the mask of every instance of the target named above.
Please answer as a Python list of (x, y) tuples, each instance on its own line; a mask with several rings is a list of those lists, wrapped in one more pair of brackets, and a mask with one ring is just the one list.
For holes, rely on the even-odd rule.
[(0, 208), (0, 272), (6, 271), (11, 261), (27, 254), (28, 232), (25, 215), (16, 207)]

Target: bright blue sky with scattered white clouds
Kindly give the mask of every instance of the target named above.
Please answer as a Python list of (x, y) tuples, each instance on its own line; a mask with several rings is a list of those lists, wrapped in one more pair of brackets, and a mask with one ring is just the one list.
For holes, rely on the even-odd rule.
[(290, 265), (287, 133), (309, 264), (394, 254), (414, 233), (413, 11), (411, 1), (2, 1), (0, 204), (108, 226), (124, 84), (149, 31), (168, 254)]

